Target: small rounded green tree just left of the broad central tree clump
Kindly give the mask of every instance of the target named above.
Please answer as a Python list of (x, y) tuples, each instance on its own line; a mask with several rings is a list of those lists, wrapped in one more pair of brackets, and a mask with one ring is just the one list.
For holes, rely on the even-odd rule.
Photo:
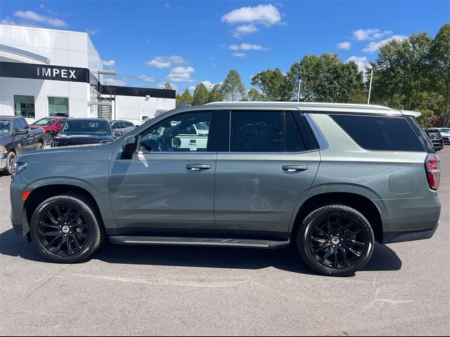
[(285, 101), (292, 97), (288, 88), (288, 77), (279, 68), (267, 69), (252, 77), (252, 86), (262, 91), (262, 100)]

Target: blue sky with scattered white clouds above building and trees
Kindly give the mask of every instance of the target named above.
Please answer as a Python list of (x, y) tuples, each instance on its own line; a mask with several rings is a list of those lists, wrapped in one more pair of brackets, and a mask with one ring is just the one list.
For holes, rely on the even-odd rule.
[(89, 32), (117, 70), (108, 84), (178, 92), (236, 69), (247, 89), (267, 68), (337, 53), (360, 67), (387, 39), (450, 22), (450, 1), (5, 1), (1, 23)]

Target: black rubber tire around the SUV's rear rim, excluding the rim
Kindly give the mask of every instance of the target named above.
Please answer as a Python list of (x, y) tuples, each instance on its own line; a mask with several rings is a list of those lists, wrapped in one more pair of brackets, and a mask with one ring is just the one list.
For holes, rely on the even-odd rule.
[[(307, 238), (309, 237), (309, 234), (311, 233), (311, 230), (313, 230), (314, 226), (320, 223), (321, 220), (323, 220), (323, 218), (339, 214), (349, 216), (354, 220), (356, 220), (359, 223), (359, 225), (361, 225), (362, 229), (364, 230), (364, 235), (368, 240), (368, 244), (364, 249), (363, 258), (360, 258), (356, 264), (346, 268), (335, 269), (326, 267), (325, 265), (319, 263), (318, 260), (316, 260), (313, 253), (309, 250), (309, 240), (307, 240)], [(299, 249), (305, 262), (307, 262), (307, 264), (314, 270), (321, 272), (325, 275), (332, 275), (332, 276), (354, 275), (354, 272), (361, 270), (361, 268), (364, 267), (366, 263), (368, 263), (368, 261), (372, 256), (374, 245), (375, 245), (375, 237), (373, 234), (372, 227), (368, 223), (368, 220), (355, 209), (352, 209), (344, 205), (324, 206), (317, 209), (316, 211), (311, 212), (309, 216), (304, 218), (302, 227), (297, 232), (297, 248)]]

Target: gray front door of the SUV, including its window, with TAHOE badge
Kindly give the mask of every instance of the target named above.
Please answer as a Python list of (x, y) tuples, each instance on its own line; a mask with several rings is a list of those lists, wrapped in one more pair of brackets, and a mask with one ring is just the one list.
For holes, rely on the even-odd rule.
[[(110, 197), (117, 225), (150, 230), (211, 230), (220, 111), (168, 117), (140, 133), (139, 152), (110, 164)], [(195, 124), (205, 133), (186, 133)]]

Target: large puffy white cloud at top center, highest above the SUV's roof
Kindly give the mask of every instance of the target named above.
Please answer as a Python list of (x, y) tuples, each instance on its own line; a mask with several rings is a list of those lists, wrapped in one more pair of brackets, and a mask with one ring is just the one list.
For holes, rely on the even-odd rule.
[(249, 22), (270, 27), (281, 21), (281, 14), (274, 5), (241, 7), (222, 16), (222, 22), (231, 25)]

